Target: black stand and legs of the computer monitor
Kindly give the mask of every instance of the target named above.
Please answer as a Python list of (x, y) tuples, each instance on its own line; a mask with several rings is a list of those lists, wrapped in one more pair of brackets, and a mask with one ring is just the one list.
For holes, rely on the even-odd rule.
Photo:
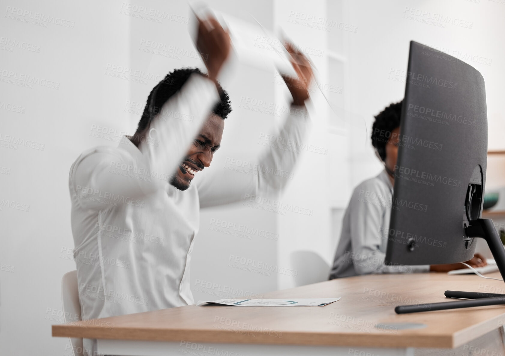
[[(486, 240), (493, 254), (501, 277), (505, 280), (505, 249), (491, 219), (475, 219), (465, 227), (469, 238)], [(464, 301), (406, 305), (394, 308), (396, 314), (419, 313), (433, 310), (460, 309), (505, 304), (505, 294), (446, 290), (447, 298), (463, 298)]]

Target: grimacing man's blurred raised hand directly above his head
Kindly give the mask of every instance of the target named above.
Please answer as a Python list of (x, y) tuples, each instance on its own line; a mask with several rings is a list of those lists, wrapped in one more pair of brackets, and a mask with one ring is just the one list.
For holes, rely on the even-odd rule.
[(209, 79), (216, 82), (219, 71), (230, 54), (230, 35), (212, 15), (208, 15), (207, 19), (196, 16), (196, 19), (198, 20), (196, 48), (204, 58)]

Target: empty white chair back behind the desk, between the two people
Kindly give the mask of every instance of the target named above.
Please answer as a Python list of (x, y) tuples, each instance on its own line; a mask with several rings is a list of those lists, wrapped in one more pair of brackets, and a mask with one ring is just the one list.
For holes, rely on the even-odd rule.
[(295, 285), (312, 284), (328, 280), (330, 265), (313, 251), (295, 251), (290, 256), (291, 266), (298, 272)]

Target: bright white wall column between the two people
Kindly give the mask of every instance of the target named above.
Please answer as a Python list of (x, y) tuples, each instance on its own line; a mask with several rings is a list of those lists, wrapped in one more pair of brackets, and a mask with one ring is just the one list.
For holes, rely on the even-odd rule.
[[(301, 20), (308, 16), (321, 16), (326, 13), (324, 1), (277, 1), (275, 4), (276, 28), (282, 29), (288, 38), (309, 54), (317, 71), (315, 75), (327, 82), (327, 32), (311, 28), (310, 22)], [(297, 14), (299, 13), (299, 14)], [(298, 21), (301, 21), (299, 23)], [(322, 54), (322, 56), (319, 56)], [(327, 91), (323, 90), (325, 95)], [(278, 100), (285, 96), (285, 87), (277, 88)], [(282, 195), (282, 201), (298, 206), (298, 210), (286, 211), (279, 215), (279, 264), (289, 266), (294, 272), (279, 274), (279, 288), (296, 285), (296, 276), (304, 261), (292, 263), (291, 254), (295, 251), (309, 250), (327, 256), (330, 229), (330, 209), (328, 187), (330, 186), (329, 157), (332, 153), (328, 135), (326, 102), (317, 89), (313, 93), (309, 107), (312, 128), (304, 142), (307, 147), (318, 146), (319, 150), (302, 150), (295, 170), (295, 178)], [(304, 147), (302, 146), (302, 147)], [(326, 154), (325, 154), (326, 153)]]

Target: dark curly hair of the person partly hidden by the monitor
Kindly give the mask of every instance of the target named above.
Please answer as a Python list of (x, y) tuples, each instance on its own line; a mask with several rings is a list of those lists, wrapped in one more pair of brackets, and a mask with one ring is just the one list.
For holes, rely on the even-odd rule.
[(375, 116), (372, 126), (372, 146), (377, 149), (383, 161), (386, 160), (386, 143), (391, 138), (391, 132), (400, 126), (402, 102), (403, 100), (390, 104)]

